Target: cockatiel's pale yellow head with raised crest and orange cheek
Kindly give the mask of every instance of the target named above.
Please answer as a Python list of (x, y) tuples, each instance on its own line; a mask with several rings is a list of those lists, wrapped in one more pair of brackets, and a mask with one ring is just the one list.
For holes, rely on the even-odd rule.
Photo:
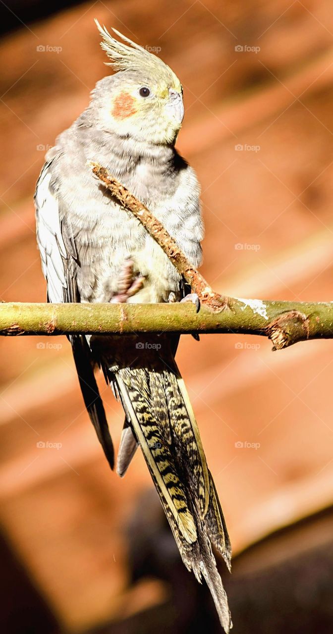
[(112, 29), (120, 42), (95, 20), (101, 47), (117, 73), (105, 77), (93, 94), (103, 128), (153, 145), (176, 141), (184, 116), (183, 89), (164, 61)]

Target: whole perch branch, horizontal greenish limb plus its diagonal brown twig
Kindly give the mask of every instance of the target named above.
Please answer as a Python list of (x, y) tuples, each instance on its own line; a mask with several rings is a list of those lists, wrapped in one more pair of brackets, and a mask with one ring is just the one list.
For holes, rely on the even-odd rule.
[(199, 295), (192, 304), (0, 304), (0, 335), (70, 335), (140, 332), (238, 333), (261, 335), (279, 350), (305, 339), (333, 338), (333, 302), (306, 303), (237, 299), (215, 293), (186, 259), (155, 216), (108, 171), (90, 163), (124, 212), (145, 226)]

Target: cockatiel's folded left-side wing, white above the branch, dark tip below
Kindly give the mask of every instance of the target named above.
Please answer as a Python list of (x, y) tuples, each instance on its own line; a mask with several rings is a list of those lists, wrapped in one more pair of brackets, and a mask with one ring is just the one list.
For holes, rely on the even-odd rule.
[[(42, 271), (48, 285), (49, 302), (80, 302), (77, 288), (80, 264), (69, 220), (61, 212), (61, 200), (52, 183), (53, 160), (44, 165), (35, 193), (37, 243), (41, 252)], [(69, 339), (84, 404), (108, 463), (113, 469), (114, 446), (96, 384), (88, 342), (83, 335), (73, 335)]]

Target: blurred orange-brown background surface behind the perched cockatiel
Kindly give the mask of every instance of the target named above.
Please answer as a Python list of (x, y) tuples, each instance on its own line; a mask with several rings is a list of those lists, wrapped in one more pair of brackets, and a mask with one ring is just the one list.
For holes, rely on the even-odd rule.
[[(27, 7), (3, 6), (11, 26), (0, 49), (1, 301), (46, 298), (34, 186), (44, 153), (109, 72), (95, 17), (151, 47), (180, 77), (177, 146), (202, 186), (202, 273), (211, 285), (236, 297), (332, 299), (329, 0), (98, 0), (32, 22)], [(332, 345), (271, 354), (260, 337), (181, 339), (178, 365), (236, 554), (332, 505)], [(152, 488), (142, 456), (124, 480), (110, 472), (65, 337), (0, 346), (0, 522), (50, 623), (8, 631), (82, 632), (162, 604), (162, 582), (130, 581), (127, 527), (137, 505), (148, 522), (151, 503), (140, 503)], [(99, 384), (117, 446), (122, 410)], [(313, 531), (311, 543), (326, 543), (323, 533)], [(293, 552), (310, 547), (301, 541)]]

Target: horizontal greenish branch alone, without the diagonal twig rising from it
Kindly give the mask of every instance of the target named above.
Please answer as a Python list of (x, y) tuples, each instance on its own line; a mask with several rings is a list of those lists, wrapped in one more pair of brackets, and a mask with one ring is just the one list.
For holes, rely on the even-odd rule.
[(333, 302), (230, 298), (224, 311), (192, 304), (0, 304), (0, 335), (139, 332), (266, 336), (273, 349), (333, 338)]

